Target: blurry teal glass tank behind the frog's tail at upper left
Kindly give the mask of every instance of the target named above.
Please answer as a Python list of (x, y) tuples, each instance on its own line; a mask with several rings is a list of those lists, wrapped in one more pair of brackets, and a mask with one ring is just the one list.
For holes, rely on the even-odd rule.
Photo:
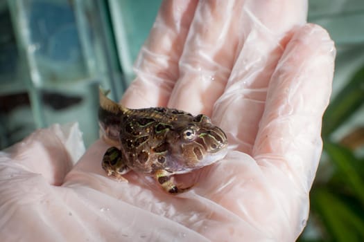
[(78, 122), (86, 145), (98, 138), (98, 86), (121, 97), (105, 1), (17, 0), (0, 6), (1, 148), (34, 129)]

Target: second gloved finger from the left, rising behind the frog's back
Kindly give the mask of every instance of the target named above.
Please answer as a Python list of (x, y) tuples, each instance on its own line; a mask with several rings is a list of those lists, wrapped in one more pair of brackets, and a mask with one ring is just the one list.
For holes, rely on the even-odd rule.
[(211, 114), (223, 93), (234, 53), (244, 1), (199, 1), (180, 60), (180, 79), (168, 106), (192, 113)]

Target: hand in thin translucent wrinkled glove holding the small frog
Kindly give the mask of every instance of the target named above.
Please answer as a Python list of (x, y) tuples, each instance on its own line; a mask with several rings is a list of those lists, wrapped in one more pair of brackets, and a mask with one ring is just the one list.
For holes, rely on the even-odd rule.
[[(72, 167), (76, 127), (37, 131), (1, 155), (1, 241), (294, 241), (309, 212), (335, 49), (306, 1), (164, 1), (141, 50), (130, 108), (211, 115), (220, 162), (165, 194), (106, 176), (98, 140)], [(71, 131), (70, 131), (71, 130)], [(73, 135), (72, 135), (73, 133)]]

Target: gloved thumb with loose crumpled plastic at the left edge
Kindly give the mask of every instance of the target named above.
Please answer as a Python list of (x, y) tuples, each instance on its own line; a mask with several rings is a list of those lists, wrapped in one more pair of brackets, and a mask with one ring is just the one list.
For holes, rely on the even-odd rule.
[[(0, 154), (3, 175), (26, 179), (39, 174), (51, 185), (61, 185), (73, 163), (85, 151), (78, 124), (54, 124), (40, 129)], [(7, 155), (6, 155), (7, 154)], [(1, 162), (0, 162), (1, 163)], [(10, 168), (11, 167), (11, 168)]]

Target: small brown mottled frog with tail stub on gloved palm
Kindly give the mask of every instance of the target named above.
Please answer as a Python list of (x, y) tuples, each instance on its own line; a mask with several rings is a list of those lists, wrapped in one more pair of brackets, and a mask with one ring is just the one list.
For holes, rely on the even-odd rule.
[(178, 187), (173, 175), (184, 174), (221, 160), (227, 138), (206, 115), (193, 116), (177, 109), (127, 109), (100, 90), (98, 120), (106, 140), (114, 144), (103, 156), (108, 176), (124, 180), (130, 169), (153, 176), (169, 194)]

